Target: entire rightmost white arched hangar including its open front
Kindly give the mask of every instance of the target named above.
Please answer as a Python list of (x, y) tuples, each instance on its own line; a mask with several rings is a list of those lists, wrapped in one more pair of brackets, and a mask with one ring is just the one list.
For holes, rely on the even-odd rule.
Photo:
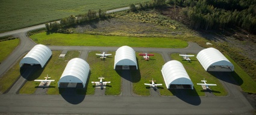
[(206, 71), (232, 72), (234, 65), (217, 49), (203, 49), (196, 56)]

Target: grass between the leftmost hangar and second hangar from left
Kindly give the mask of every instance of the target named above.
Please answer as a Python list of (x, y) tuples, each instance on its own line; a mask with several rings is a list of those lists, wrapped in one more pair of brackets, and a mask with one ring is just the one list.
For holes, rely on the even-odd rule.
[(55, 79), (54, 82), (51, 82), (51, 85), (48, 89), (49, 95), (58, 95), (58, 80), (63, 73), (67, 63), (72, 58), (79, 57), (79, 51), (68, 51), (64, 58), (59, 58), (58, 56), (61, 54), (61, 51), (52, 51), (52, 57), (46, 64), (43, 69), (39, 69), (29, 76), (28, 81), (23, 85), (22, 89), (20, 89), (19, 93), (24, 94), (33, 94), (36, 90), (40, 82), (35, 82), (34, 79), (45, 79), (47, 74), (51, 79)]

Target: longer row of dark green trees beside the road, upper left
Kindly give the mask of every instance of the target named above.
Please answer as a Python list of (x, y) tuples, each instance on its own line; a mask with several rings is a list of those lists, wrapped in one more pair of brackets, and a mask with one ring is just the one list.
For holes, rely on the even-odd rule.
[(45, 26), (48, 32), (69, 33), (63, 29), (81, 23), (92, 22), (95, 20), (104, 20), (107, 17), (108, 15), (101, 9), (99, 9), (98, 13), (96, 11), (89, 10), (86, 14), (80, 14), (78, 16), (70, 15), (69, 17), (64, 17), (60, 20), (60, 22), (55, 21), (53, 23), (45, 23)]

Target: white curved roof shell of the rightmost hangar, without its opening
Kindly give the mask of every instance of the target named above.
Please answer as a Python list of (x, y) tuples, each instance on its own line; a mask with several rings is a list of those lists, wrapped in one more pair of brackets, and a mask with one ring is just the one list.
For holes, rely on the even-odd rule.
[(210, 66), (229, 66), (234, 71), (233, 64), (217, 49), (207, 48), (203, 49), (196, 56), (205, 70)]

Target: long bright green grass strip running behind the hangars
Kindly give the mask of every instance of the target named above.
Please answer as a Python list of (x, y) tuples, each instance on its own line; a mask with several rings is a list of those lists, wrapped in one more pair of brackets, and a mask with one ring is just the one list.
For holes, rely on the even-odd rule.
[(100, 36), (89, 34), (60, 34), (47, 35), (39, 33), (30, 36), (38, 44), (57, 46), (123, 46), (148, 48), (186, 48), (187, 42), (167, 37), (122, 37)]

